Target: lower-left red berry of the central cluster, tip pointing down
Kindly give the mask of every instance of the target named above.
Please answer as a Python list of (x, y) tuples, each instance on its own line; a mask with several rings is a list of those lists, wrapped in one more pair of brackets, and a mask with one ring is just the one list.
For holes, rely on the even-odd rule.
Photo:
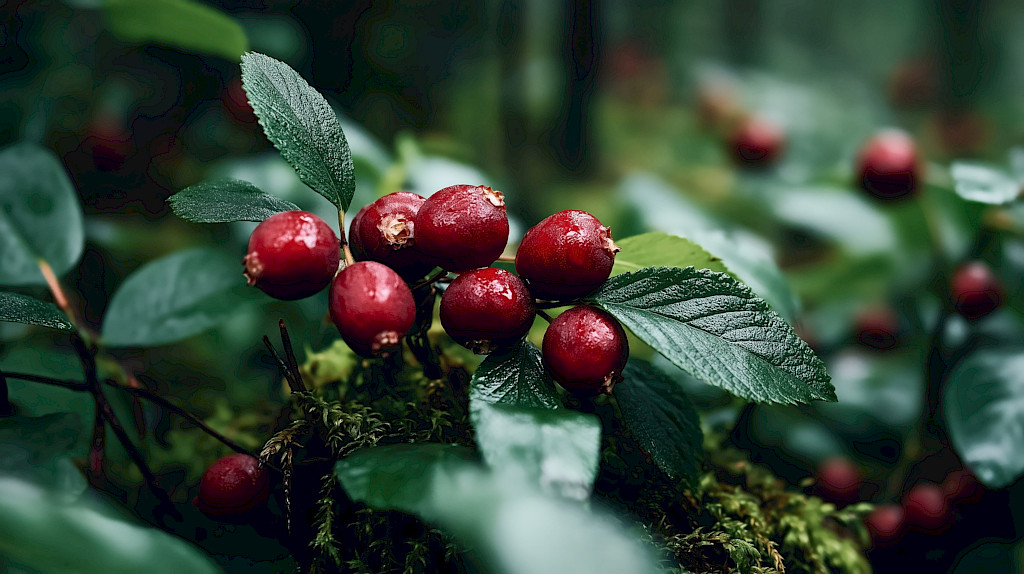
[(341, 338), (365, 357), (397, 349), (416, 319), (409, 285), (376, 261), (359, 261), (338, 273), (331, 282), (329, 309)]

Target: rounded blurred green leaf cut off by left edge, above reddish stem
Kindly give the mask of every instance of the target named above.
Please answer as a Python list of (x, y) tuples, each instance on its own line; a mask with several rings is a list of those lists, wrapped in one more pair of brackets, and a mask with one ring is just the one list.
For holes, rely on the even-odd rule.
[(30, 143), (0, 151), (0, 284), (46, 284), (39, 260), (62, 275), (84, 238), (78, 192), (60, 160)]

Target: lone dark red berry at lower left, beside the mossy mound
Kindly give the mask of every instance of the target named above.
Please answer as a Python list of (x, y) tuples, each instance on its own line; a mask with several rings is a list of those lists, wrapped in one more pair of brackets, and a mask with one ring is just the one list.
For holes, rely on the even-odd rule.
[(269, 490), (259, 460), (248, 454), (228, 454), (203, 473), (196, 504), (210, 516), (241, 515), (266, 501)]

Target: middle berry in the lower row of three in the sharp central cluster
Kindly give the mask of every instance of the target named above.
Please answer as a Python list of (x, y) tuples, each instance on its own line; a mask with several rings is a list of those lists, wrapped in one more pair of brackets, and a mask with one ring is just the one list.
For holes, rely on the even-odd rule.
[(536, 312), (522, 279), (494, 267), (462, 273), (441, 296), (441, 326), (457, 343), (481, 355), (526, 335)]

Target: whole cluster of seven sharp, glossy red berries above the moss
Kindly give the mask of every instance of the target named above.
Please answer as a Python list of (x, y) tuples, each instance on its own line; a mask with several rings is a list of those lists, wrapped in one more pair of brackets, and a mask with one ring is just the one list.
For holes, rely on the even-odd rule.
[[(440, 301), (441, 326), (479, 354), (521, 339), (537, 300), (569, 302), (608, 278), (618, 248), (608, 228), (583, 211), (556, 213), (530, 228), (515, 257), (516, 273), (489, 267), (509, 236), (504, 195), (486, 186), (453, 185), (424, 198), (390, 193), (352, 219), (357, 261), (338, 271), (340, 241), (306, 212), (276, 214), (253, 231), (243, 263), (250, 284), (284, 300), (330, 285), (329, 309), (356, 353), (383, 356), (400, 348), (416, 319), (410, 283), (440, 267), (457, 273)], [(580, 305), (548, 326), (542, 353), (566, 390), (610, 392), (629, 355), (626, 333), (611, 315)]]

